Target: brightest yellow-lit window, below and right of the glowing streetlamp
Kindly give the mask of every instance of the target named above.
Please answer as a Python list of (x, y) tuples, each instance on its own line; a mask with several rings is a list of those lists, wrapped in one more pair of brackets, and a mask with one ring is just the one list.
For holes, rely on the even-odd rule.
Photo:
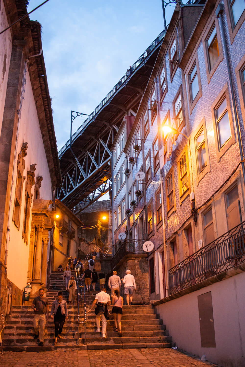
[(190, 191), (190, 176), (188, 167), (188, 155), (187, 148), (184, 149), (183, 153), (178, 157), (178, 178), (179, 178), (179, 192), (180, 201), (185, 199)]

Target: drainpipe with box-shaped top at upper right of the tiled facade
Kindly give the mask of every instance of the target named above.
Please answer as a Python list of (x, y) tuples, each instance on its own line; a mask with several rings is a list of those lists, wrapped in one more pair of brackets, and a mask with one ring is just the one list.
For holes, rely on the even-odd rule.
[[(222, 38), (223, 38), (223, 42), (224, 42), (224, 55), (225, 55), (225, 58), (226, 58), (227, 71), (228, 71), (228, 76), (229, 76), (229, 81), (230, 81), (231, 98), (232, 98), (232, 104), (233, 104), (234, 115), (235, 115), (235, 123), (236, 123), (236, 127), (237, 127), (237, 138), (238, 138), (238, 144), (239, 144), (239, 152), (240, 152), (240, 157), (241, 157), (241, 161), (242, 161), (244, 159), (244, 156), (243, 156), (243, 151), (242, 151), (241, 131), (240, 131), (240, 126), (239, 126), (239, 122), (238, 122), (237, 107), (236, 107), (235, 95), (234, 95), (234, 88), (233, 88), (233, 83), (232, 83), (232, 79), (231, 79), (231, 69), (230, 69), (230, 63), (229, 63), (229, 59), (228, 59), (226, 38), (224, 36), (223, 19), (222, 19), (222, 17), (220, 17), (220, 15), (223, 13), (223, 11), (224, 11), (223, 4), (219, 4), (217, 6), (217, 9), (215, 11), (215, 14), (216, 14), (216, 17), (217, 18), (220, 18), (221, 34), (222, 34)], [(244, 181), (244, 186), (245, 186), (245, 168), (244, 168), (244, 162), (242, 162), (242, 175), (243, 175), (243, 181)]]

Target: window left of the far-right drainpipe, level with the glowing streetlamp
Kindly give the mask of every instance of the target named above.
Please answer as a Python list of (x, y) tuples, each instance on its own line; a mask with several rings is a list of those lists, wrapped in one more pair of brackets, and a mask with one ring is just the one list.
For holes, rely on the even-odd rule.
[(218, 131), (218, 144), (219, 149), (227, 142), (231, 137), (231, 128), (227, 110), (226, 97), (215, 108), (215, 119)]

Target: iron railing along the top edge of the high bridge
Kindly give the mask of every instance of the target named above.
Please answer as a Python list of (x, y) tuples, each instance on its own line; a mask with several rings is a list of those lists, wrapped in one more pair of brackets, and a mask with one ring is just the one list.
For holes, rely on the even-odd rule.
[(97, 113), (101, 110), (101, 108), (111, 99), (114, 93), (120, 88), (123, 83), (130, 77), (130, 75), (140, 66), (144, 64), (145, 59), (147, 56), (154, 50), (154, 48), (162, 41), (163, 37), (165, 36), (165, 30), (163, 30), (158, 37), (150, 44), (150, 46), (145, 50), (145, 52), (138, 58), (138, 60), (133, 64), (129, 71), (127, 71), (123, 77), (116, 83), (115, 87), (107, 94), (107, 96), (100, 102), (100, 104), (96, 107), (95, 110), (87, 117), (87, 119), (82, 123), (82, 125), (74, 132), (71, 139), (69, 139), (64, 146), (62, 146), (61, 150), (58, 152), (59, 158), (61, 154), (65, 151), (66, 148), (70, 145), (70, 140), (73, 141), (81, 132), (83, 132), (84, 128), (90, 123), (91, 120), (97, 115)]

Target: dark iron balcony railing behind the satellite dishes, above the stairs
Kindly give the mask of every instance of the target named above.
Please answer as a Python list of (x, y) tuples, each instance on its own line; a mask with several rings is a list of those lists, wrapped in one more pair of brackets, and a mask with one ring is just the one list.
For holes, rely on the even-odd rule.
[(142, 245), (145, 240), (125, 240), (116, 242), (116, 246), (120, 246), (116, 254), (111, 260), (111, 269), (119, 263), (119, 261), (127, 254), (143, 254)]

